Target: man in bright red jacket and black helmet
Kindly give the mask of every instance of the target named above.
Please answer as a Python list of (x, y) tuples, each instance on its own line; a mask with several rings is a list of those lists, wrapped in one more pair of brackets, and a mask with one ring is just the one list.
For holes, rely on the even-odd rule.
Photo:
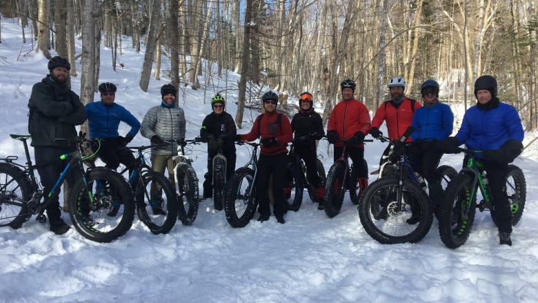
[(340, 84), (342, 100), (332, 109), (327, 126), (327, 140), (335, 145), (334, 160), (340, 158), (343, 141), (347, 139), (346, 149), (353, 162), (353, 169), (359, 177), (359, 195), (368, 186), (368, 167), (364, 167), (364, 144), (362, 140), (370, 130), (370, 113), (368, 108), (353, 97), (355, 81), (345, 79)]

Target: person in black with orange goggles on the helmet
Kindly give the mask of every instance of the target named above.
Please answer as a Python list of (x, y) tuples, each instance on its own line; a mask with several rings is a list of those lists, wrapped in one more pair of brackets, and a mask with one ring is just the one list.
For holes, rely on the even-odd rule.
[[(324, 190), (321, 186), (321, 179), (317, 175), (316, 169), (316, 140), (323, 138), (323, 121), (321, 116), (314, 110), (314, 101), (310, 92), (302, 92), (299, 98), (299, 113), (293, 116), (291, 121), (292, 130), (295, 133), (295, 151), (299, 154), (306, 165), (308, 182), (316, 188), (317, 199), (323, 199)], [(285, 192), (290, 192), (291, 188), (284, 188)]]

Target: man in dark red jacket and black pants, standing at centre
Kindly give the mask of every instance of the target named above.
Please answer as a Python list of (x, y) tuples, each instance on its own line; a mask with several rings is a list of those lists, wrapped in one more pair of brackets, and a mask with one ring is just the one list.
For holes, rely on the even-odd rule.
[(258, 159), (258, 177), (256, 192), (258, 200), (259, 222), (267, 221), (271, 215), (269, 207), (268, 185), (272, 175), (272, 195), (275, 198), (273, 213), (277, 222), (284, 224), (284, 186), (286, 185), (286, 168), (288, 166), (288, 143), (293, 139), (290, 119), (277, 113), (279, 97), (268, 91), (261, 97), (265, 113), (256, 117), (250, 133), (237, 135), (236, 139), (254, 141), (261, 138)]

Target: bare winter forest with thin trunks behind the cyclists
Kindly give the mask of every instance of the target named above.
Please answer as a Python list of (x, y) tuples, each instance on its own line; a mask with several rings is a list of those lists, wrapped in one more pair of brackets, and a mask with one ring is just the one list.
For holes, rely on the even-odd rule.
[[(444, 101), (468, 108), (475, 79), (489, 74), (526, 130), (536, 130), (537, 10), (536, 0), (0, 0), (1, 17), (18, 18), (30, 52), (70, 60), (84, 103), (97, 92), (100, 46), (110, 49), (116, 70), (126, 64), (122, 48), (140, 52), (144, 43), (137, 88), (144, 92), (150, 77), (181, 91), (199, 88), (199, 77), (211, 84), (223, 70), (238, 72), (239, 83), (222, 93), (238, 96), (239, 128), (244, 106), (259, 106), (269, 88), (284, 102), (312, 92), (326, 121), (344, 78), (357, 81), (355, 95), (371, 110), (388, 99), (386, 83), (395, 76), (415, 98), (422, 81), (436, 79)], [(74, 68), (79, 58), (81, 70)]]

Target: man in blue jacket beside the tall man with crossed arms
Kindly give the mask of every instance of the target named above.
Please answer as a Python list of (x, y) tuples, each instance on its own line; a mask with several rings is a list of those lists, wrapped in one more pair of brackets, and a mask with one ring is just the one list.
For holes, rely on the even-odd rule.
[[(117, 88), (110, 82), (99, 84), (100, 102), (86, 104), (86, 117), (91, 139), (99, 139), (101, 147), (97, 155), (105, 162), (106, 167), (113, 170), (119, 164), (129, 166), (135, 161), (135, 156), (126, 148), (127, 144), (137, 135), (140, 122), (126, 108), (114, 103)], [(131, 129), (122, 137), (118, 133), (119, 123), (123, 121)]]

